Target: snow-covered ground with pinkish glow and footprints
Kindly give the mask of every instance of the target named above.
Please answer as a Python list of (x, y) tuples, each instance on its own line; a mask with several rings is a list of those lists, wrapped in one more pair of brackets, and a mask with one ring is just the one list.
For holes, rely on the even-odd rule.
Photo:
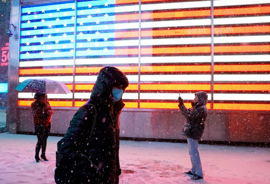
[[(49, 161), (35, 162), (36, 136), (0, 134), (0, 183), (54, 183), (56, 143), (49, 137)], [(204, 180), (200, 183), (270, 183), (270, 148), (199, 145)], [(122, 184), (181, 184), (190, 170), (186, 143), (120, 141)]]

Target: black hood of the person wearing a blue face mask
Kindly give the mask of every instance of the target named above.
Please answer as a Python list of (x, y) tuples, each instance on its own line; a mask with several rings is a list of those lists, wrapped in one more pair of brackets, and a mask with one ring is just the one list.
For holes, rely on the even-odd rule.
[(99, 106), (107, 106), (111, 103), (112, 87), (123, 85), (123, 90), (129, 86), (129, 80), (122, 71), (115, 67), (104, 67), (99, 71), (89, 101)]

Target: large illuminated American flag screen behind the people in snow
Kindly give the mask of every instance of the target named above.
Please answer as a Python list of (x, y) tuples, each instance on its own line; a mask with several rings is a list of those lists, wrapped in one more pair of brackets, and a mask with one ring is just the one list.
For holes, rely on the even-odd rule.
[[(114, 66), (130, 81), (126, 108), (177, 109), (179, 92), (190, 107), (206, 91), (208, 109), (270, 110), (270, 0), (213, 5), (213, 32), (211, 1), (22, 6), (19, 82), (62, 81), (74, 95), (49, 94), (50, 104), (80, 107), (99, 70)], [(32, 103), (31, 93), (18, 97), (19, 106)]]

